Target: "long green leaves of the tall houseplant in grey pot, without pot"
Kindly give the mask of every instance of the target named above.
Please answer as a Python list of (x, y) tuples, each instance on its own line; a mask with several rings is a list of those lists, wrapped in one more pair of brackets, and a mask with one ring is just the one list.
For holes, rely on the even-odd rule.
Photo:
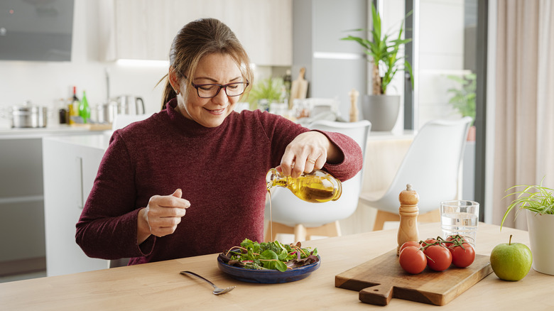
[[(408, 16), (411, 13), (408, 13)], [(352, 40), (362, 45), (364, 52), (369, 56), (369, 61), (373, 62), (372, 72), (372, 93), (386, 94), (386, 89), (393, 80), (398, 71), (408, 71), (413, 87), (412, 67), (404, 57), (398, 56), (398, 50), (402, 45), (411, 42), (411, 39), (403, 39), (403, 25), (401, 23), (398, 36), (391, 38), (391, 34), (381, 32), (381, 16), (377, 13), (374, 4), (371, 4), (371, 16), (373, 29), (371, 29), (371, 40), (349, 35), (341, 40)], [(364, 29), (354, 29), (352, 31), (365, 31)]]

